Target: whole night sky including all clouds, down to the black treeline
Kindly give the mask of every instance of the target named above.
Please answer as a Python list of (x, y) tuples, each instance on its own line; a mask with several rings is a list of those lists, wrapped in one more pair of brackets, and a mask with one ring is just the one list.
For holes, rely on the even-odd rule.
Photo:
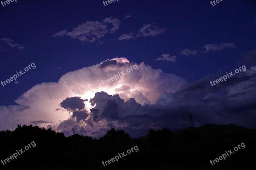
[(254, 0), (0, 4), (0, 81), (31, 64), (0, 85), (0, 130), (32, 124), (98, 138), (114, 127), (139, 137), (189, 127), (189, 114), (196, 127), (252, 129), (255, 11)]

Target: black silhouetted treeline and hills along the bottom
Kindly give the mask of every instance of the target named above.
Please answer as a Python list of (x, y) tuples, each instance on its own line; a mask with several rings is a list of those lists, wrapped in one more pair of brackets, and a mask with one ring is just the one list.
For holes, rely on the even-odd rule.
[[(93, 139), (63, 133), (38, 126), (18, 125), (14, 131), (0, 132), (0, 159), (9, 158), (16, 150), (35, 141), (36, 147), (22, 153), (0, 169), (34, 170), (250, 170), (255, 169), (256, 130), (235, 124), (206, 124), (199, 128), (190, 127), (173, 132), (168, 128), (149, 129), (146, 137), (131, 138), (124, 130), (111, 128), (104, 137)], [(244, 142), (244, 149), (220, 160), (215, 165), (210, 159)], [(107, 161), (137, 146), (118, 162), (103, 166)]]

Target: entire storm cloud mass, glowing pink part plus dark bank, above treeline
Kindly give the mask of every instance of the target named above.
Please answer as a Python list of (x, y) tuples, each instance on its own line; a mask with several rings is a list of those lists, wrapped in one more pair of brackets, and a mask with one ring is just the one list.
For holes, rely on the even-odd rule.
[[(135, 64), (138, 70), (107, 85), (101, 83)], [(188, 127), (189, 114), (194, 114), (196, 126), (232, 122), (251, 127), (255, 75), (253, 68), (247, 68), (213, 88), (209, 83), (213, 75), (188, 84), (143, 62), (113, 58), (68, 72), (57, 83), (37, 84), (15, 100), (17, 105), (0, 106), (0, 130), (32, 123), (66, 136), (74, 128), (77, 134), (101, 137), (115, 127), (138, 137), (151, 128)], [(227, 94), (222, 93), (225, 90)]]

